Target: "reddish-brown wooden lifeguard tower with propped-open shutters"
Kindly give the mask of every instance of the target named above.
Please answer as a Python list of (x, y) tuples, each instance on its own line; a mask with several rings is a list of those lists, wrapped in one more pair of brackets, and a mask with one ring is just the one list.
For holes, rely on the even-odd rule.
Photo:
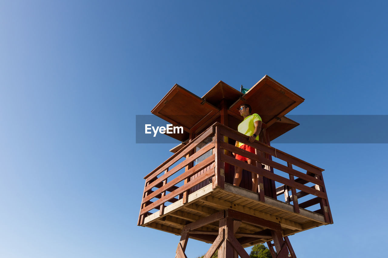
[[(274, 258), (295, 258), (289, 235), (333, 224), (323, 169), (270, 146), (299, 125), (285, 115), (303, 100), (269, 76), (245, 94), (220, 81), (202, 98), (175, 84), (151, 113), (182, 126), (183, 134), (170, 134), (182, 144), (144, 177), (138, 225), (180, 235), (178, 258), (186, 257), (189, 238), (212, 243), (205, 258), (217, 249), (220, 258), (249, 258), (244, 248), (259, 243), (267, 243)], [(249, 143), (236, 131), (243, 103), (262, 117), (260, 141)], [(239, 187), (232, 184), (235, 165), (244, 169)], [(256, 192), (248, 190), (251, 172), (258, 175)]]

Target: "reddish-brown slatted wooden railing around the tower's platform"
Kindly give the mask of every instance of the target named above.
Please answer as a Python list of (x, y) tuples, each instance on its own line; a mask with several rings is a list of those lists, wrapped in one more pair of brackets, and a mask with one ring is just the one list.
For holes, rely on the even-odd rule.
[[(256, 148), (258, 154), (242, 150), (232, 144), (224, 142), (223, 140), (227, 139), (224, 136)], [(212, 137), (212, 141), (195, 152), (198, 144), (208, 137)], [(193, 164), (194, 160), (210, 150), (213, 150), (210, 157), (205, 158), (196, 165)], [(228, 152), (234, 152), (255, 160), (259, 165), (253, 166), (237, 160), (232, 155), (226, 154)], [(266, 155), (263, 155), (263, 153)], [(287, 165), (273, 161), (272, 157), (281, 160), (282, 163)], [(182, 158), (185, 159), (179, 162)], [(260, 201), (265, 202), (263, 178), (266, 177), (267, 179), (278, 182), (278, 184), (282, 184), (282, 186), (276, 188), (276, 193), (278, 196), (284, 194), (286, 203), (292, 202), (294, 212), (299, 213), (299, 208), (307, 208), (319, 204), (320, 209), (315, 212), (324, 215), (325, 222), (333, 223), (322, 177), (323, 169), (267, 144), (258, 141), (249, 143), (244, 134), (220, 123), (215, 123), (144, 177), (145, 187), (138, 224), (143, 224), (144, 218), (151, 214), (150, 211), (153, 209), (158, 209), (159, 214), (162, 215), (166, 202), (173, 203), (182, 199), (183, 204), (187, 203), (189, 190), (200, 182), (211, 179), (213, 189), (217, 187), (224, 188), (225, 178), (223, 175), (225, 163), (242, 167), (242, 169), (258, 175), (258, 195)], [(267, 169), (263, 169), (260, 163), (267, 165)], [(306, 172), (300, 172), (294, 169), (293, 165)], [(195, 178), (192, 177), (206, 167), (210, 169), (207, 169), (206, 172)], [(185, 171), (180, 172), (183, 169)], [(285, 172), (288, 174), (288, 178), (277, 174), (276, 171)], [(308, 183), (312, 183), (313, 186), (306, 186)], [(289, 191), (291, 191), (291, 194)], [(298, 203), (298, 198), (304, 196), (308, 196), (308, 200), (303, 203)]]

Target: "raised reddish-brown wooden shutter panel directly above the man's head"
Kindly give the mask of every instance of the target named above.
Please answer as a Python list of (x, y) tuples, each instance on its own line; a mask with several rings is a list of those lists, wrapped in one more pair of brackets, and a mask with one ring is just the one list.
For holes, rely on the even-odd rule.
[(305, 99), (284, 87), (269, 76), (264, 76), (247, 93), (236, 100), (229, 110), (239, 115), (239, 107), (249, 104), (252, 111), (262, 117), (267, 128), (281, 119)]

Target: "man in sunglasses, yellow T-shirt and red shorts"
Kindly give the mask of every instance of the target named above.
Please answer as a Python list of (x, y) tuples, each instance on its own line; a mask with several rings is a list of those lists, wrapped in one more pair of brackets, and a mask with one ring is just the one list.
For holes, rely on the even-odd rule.
[[(248, 104), (243, 104), (240, 106), (240, 115), (244, 117), (244, 120), (239, 124), (238, 131), (242, 134), (248, 136), (248, 141), (253, 143), (255, 140), (259, 139), (259, 133), (262, 129), (262, 119), (258, 114), (252, 114), (252, 108)], [(236, 141), (236, 147), (241, 148), (242, 150), (246, 150), (252, 153), (255, 153), (255, 148), (248, 146), (246, 144), (240, 143)], [(237, 160), (241, 160), (244, 162), (248, 162), (248, 164), (256, 166), (256, 161), (243, 157), (239, 154), (233, 153), (236, 155)], [(257, 191), (257, 174), (251, 172), (252, 174), (252, 191)], [(242, 168), (234, 167), (234, 186), (239, 186), (242, 178)]]

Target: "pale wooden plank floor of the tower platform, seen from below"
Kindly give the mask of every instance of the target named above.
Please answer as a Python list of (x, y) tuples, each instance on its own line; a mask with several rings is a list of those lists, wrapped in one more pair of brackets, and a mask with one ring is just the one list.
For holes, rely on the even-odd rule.
[[(212, 189), (212, 185), (189, 194), (188, 202), (183, 204), (182, 199), (165, 207), (163, 215), (155, 212), (145, 218), (142, 226), (180, 235), (184, 225), (207, 217), (220, 210), (232, 209), (254, 215), (265, 220), (279, 223), (283, 236), (289, 236), (313, 227), (327, 225), (323, 215), (300, 208), (300, 213), (294, 213), (293, 206), (273, 198), (265, 197), (265, 202), (258, 201), (258, 194), (241, 187), (225, 183), (225, 189)], [(264, 228), (242, 223), (236, 232), (238, 234), (254, 234)], [(217, 231), (218, 222), (208, 224), (197, 230)], [(195, 237), (193, 237), (195, 238)], [(267, 239), (256, 239), (244, 243), (249, 247), (264, 243)], [(203, 240), (202, 240), (203, 241)], [(205, 241), (211, 243), (211, 240)]]

